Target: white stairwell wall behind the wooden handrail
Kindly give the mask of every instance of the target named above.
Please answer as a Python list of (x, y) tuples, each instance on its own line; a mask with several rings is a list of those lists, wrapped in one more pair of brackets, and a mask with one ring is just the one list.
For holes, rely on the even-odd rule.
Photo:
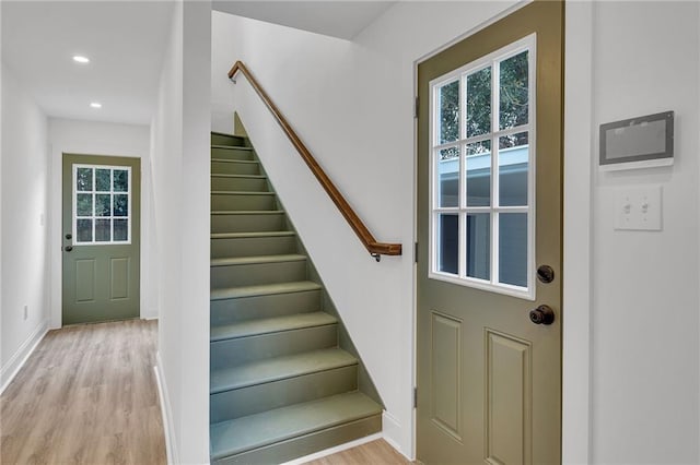
[[(233, 109), (240, 110), (385, 402), (384, 432), (408, 456), (413, 453), (413, 64), (510, 4), (401, 2), (353, 41), (213, 13), (214, 129), (228, 130)], [(235, 86), (229, 82), (226, 72), (237, 59), (377, 240), (402, 243), (402, 257), (385, 257), (378, 264), (370, 258), (245, 79)]]

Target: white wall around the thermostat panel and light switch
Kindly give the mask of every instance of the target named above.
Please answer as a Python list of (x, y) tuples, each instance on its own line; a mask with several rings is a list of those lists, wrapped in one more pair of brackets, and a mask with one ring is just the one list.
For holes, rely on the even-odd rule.
[[(698, 463), (699, 4), (593, 11), (594, 140), (676, 112), (673, 167), (594, 172), (593, 462)], [(614, 230), (615, 193), (635, 186), (663, 188), (661, 233)]]

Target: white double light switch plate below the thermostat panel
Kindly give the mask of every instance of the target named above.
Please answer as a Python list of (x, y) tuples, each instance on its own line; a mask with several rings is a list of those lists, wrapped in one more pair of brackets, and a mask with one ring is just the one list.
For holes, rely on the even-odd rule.
[(660, 231), (661, 186), (619, 188), (615, 193), (615, 229)]

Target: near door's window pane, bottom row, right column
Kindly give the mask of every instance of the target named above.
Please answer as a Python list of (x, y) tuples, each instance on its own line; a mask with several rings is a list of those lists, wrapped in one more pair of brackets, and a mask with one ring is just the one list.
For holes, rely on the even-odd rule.
[(499, 215), (499, 283), (527, 287), (527, 213)]

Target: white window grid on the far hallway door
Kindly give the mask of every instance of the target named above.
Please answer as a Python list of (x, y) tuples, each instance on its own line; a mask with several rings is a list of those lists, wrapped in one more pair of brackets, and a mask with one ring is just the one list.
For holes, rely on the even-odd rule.
[[(78, 190), (78, 170), (80, 168), (88, 168), (92, 170), (92, 190), (89, 191), (79, 191)], [(109, 170), (109, 190), (108, 191), (98, 191), (96, 184), (96, 172), (98, 169), (108, 169)], [(115, 191), (114, 190), (114, 171), (127, 171), (127, 191)], [(73, 164), (72, 169), (72, 237), (74, 246), (108, 246), (108, 245), (130, 245), (131, 243), (131, 167), (130, 166), (119, 166), (119, 165), (88, 165), (88, 164)], [(109, 215), (108, 216), (96, 216), (96, 195), (97, 194), (110, 194), (110, 203), (109, 203)], [(92, 215), (78, 215), (78, 194), (92, 194)], [(126, 216), (115, 216), (114, 215), (114, 195), (127, 195), (127, 215)], [(91, 241), (79, 241), (78, 240), (78, 220), (79, 219), (92, 219), (92, 240)], [(97, 219), (109, 219), (109, 240), (108, 241), (97, 241), (95, 235), (95, 224)], [(126, 240), (114, 240), (114, 224), (115, 219), (126, 220), (127, 222), (127, 238)]]

